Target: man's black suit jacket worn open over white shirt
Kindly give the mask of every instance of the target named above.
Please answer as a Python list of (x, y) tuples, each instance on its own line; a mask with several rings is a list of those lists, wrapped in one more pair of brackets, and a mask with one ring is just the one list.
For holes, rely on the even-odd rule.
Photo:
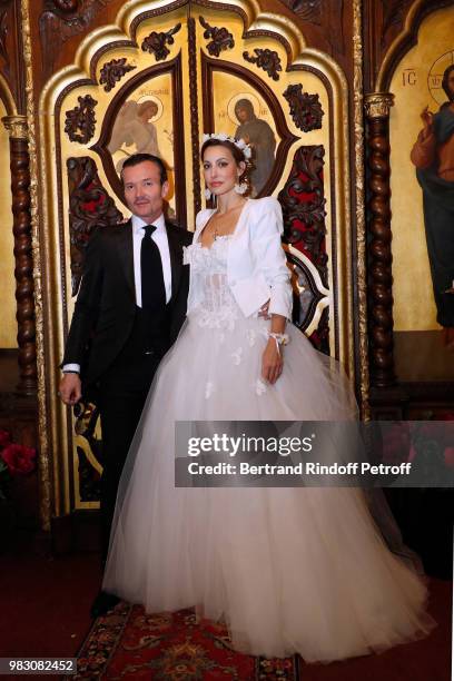
[[(193, 235), (166, 221), (171, 265), (170, 343), (186, 316), (189, 266), (182, 247)], [(65, 364), (80, 364), (85, 388), (109, 368), (128, 339), (136, 314), (132, 223), (98, 227), (86, 251), (83, 277), (65, 348)]]

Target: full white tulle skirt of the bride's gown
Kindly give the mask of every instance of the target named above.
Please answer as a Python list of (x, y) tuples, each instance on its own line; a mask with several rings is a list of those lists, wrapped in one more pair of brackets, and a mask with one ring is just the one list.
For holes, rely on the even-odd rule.
[(351, 420), (346, 378), (295, 327), (260, 379), (261, 319), (191, 316), (157, 373), (120, 483), (103, 589), (147, 612), (195, 606), (233, 647), (330, 661), (427, 633), (426, 588), (356, 488), (176, 488), (175, 421)]

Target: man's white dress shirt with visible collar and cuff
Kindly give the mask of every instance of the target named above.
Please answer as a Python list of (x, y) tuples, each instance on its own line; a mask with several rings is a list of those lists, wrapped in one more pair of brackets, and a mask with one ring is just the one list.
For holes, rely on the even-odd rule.
[[(134, 257), (134, 283), (136, 288), (136, 305), (141, 307), (141, 270), (140, 270), (140, 247), (141, 240), (145, 236), (144, 226), (150, 225), (142, 220), (137, 215), (131, 218), (132, 221), (132, 257)], [(167, 237), (166, 220), (161, 214), (157, 220), (152, 223), (156, 229), (151, 235), (152, 240), (159, 248), (159, 254), (162, 263), (164, 285), (166, 287), (166, 303), (171, 298), (171, 265), (170, 265), (170, 249), (169, 240)], [(79, 364), (65, 364), (62, 367), (63, 372), (77, 372), (80, 373)]]

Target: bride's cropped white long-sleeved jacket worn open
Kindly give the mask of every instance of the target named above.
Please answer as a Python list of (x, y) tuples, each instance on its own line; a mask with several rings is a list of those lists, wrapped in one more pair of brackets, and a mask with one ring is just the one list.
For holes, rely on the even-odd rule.
[[(193, 244), (214, 209), (200, 210)], [(227, 283), (245, 317), (255, 315), (269, 300), (269, 312), (292, 319), (290, 273), (280, 243), (284, 231), (279, 203), (270, 197), (248, 199), (239, 216), (228, 249)], [(203, 298), (197, 277), (190, 277), (188, 314)]]

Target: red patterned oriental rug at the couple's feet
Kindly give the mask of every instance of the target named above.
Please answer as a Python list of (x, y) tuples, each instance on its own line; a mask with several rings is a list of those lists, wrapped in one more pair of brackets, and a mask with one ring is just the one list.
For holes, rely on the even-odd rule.
[(75, 679), (279, 681), (299, 679), (298, 660), (253, 658), (231, 650), (227, 630), (193, 610), (147, 615), (119, 603), (98, 618), (78, 655)]

